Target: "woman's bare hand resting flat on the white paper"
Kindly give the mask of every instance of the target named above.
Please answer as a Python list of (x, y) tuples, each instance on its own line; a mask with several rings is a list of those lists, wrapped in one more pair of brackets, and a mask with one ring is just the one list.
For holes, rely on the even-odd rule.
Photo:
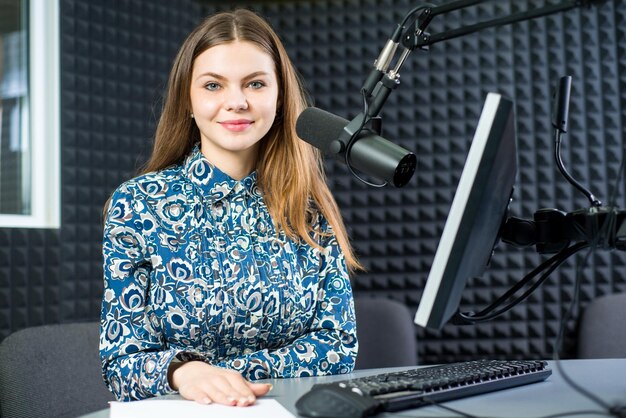
[(172, 364), (170, 386), (185, 399), (209, 404), (252, 405), (257, 397), (272, 389), (268, 383), (252, 383), (241, 374), (201, 361)]

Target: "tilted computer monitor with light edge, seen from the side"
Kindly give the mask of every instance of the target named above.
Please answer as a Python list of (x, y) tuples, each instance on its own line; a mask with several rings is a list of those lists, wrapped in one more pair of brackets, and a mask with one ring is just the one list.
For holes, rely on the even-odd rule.
[(511, 100), (489, 93), (437, 246), (415, 323), (441, 329), (489, 264), (517, 173)]

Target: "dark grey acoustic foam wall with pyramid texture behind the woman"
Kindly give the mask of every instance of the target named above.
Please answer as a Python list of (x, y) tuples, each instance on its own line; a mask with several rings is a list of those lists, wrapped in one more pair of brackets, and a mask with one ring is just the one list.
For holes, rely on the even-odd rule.
[[(442, 4), (441, 1), (433, 1)], [(61, 0), (62, 226), (0, 229), (0, 338), (27, 326), (94, 320), (102, 292), (102, 207), (145, 161), (178, 46), (206, 14), (253, 8), (271, 22), (313, 103), (344, 118), (409, 0)], [(436, 17), (432, 32), (541, 6), (496, 0)], [(549, 2), (548, 2), (549, 3)], [(555, 3), (554, 1), (552, 3)], [(413, 150), (418, 168), (400, 189), (372, 188), (327, 162), (329, 182), (367, 271), (358, 295), (393, 298), (413, 311), (443, 230), (487, 92), (515, 102), (519, 174), (511, 214), (588, 206), (553, 161), (551, 98), (573, 77), (563, 158), (574, 178), (607, 201), (617, 186), (626, 135), (626, 4), (575, 9), (488, 29), (413, 52), (382, 111), (384, 136)], [(492, 302), (544, 257), (499, 244), (490, 269), (469, 281), (464, 310)], [(626, 255), (572, 257), (529, 299), (491, 322), (441, 331), (416, 327), (422, 363), (479, 357), (547, 358), (561, 320), (573, 355), (575, 318), (597, 296), (626, 291)]]

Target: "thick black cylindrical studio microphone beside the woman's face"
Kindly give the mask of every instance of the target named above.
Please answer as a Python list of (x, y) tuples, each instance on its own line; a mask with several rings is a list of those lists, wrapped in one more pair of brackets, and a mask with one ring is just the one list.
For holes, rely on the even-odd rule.
[(417, 167), (415, 154), (369, 128), (362, 129), (349, 146), (351, 127), (356, 120), (349, 122), (325, 110), (309, 107), (298, 116), (296, 133), (324, 155), (332, 155), (350, 168), (385, 180), (395, 187), (407, 184)]

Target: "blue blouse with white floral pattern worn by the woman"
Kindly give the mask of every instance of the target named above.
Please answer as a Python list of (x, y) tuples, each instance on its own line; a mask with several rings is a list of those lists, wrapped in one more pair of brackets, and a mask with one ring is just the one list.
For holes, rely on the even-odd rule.
[(120, 400), (173, 393), (173, 360), (250, 380), (348, 373), (352, 289), (326, 220), (322, 250), (276, 231), (256, 173), (236, 181), (198, 147), (113, 194), (104, 227), (100, 356)]

